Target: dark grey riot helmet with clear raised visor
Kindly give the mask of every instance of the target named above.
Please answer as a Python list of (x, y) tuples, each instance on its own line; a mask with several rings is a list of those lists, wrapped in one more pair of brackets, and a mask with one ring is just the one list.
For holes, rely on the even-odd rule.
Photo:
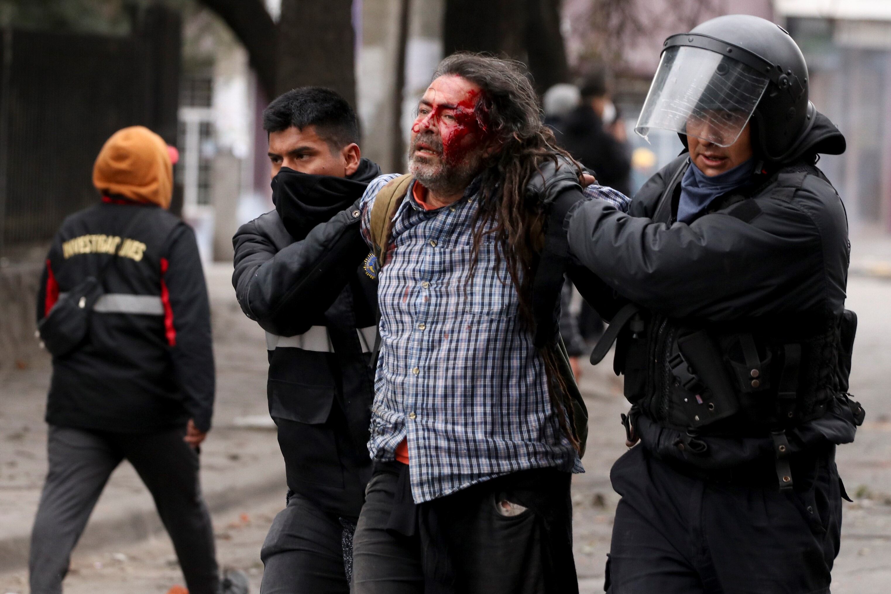
[(781, 161), (813, 126), (807, 65), (784, 28), (730, 14), (668, 37), (634, 131), (652, 128), (730, 146), (752, 122), (752, 148)]

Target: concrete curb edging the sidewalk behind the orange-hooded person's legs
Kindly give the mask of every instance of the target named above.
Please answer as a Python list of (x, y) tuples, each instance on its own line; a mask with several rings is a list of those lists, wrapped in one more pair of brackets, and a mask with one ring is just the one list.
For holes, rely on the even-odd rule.
[[(240, 484), (208, 493), (204, 500), (211, 515), (233, 509), (247, 500), (251, 500), (250, 504), (254, 505), (259, 500), (272, 500), (273, 497), (282, 500), (283, 508), (285, 489), (283, 473), (276, 473), (274, 476), (264, 477), (257, 483)], [(83, 552), (102, 549), (112, 544), (143, 541), (163, 530), (164, 526), (161, 525), (154, 507), (136, 509), (120, 517), (110, 517), (87, 524), (76, 550)], [(0, 572), (28, 566), (30, 540), (30, 533), (0, 539)]]

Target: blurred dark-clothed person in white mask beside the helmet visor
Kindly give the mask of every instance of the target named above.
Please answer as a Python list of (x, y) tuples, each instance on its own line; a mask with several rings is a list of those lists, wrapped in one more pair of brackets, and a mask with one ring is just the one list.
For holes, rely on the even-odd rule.
[(602, 69), (584, 80), (581, 102), (565, 117), (560, 140), (563, 148), (593, 171), (598, 183), (627, 196), (631, 193), (631, 153), (607, 83)]

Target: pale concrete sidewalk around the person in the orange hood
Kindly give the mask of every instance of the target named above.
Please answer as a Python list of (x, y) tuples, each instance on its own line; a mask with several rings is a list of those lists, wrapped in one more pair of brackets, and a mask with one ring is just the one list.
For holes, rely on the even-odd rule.
[[(257, 498), (284, 500), (284, 465), (274, 430), (239, 427), (236, 419), (267, 417), (266, 342), (235, 301), (231, 266), (206, 271), (217, 358), (214, 428), (201, 448), (201, 484), (212, 511)], [(31, 524), (46, 473), (43, 420), (50, 360), (0, 378), (0, 570), (27, 563)], [(134, 469), (123, 463), (96, 505), (78, 550), (144, 539), (162, 529)]]

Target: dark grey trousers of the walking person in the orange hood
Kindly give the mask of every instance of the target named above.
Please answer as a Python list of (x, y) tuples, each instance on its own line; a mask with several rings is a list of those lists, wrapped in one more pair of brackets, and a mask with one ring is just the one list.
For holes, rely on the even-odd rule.
[(49, 472), (31, 533), (32, 594), (59, 594), (71, 550), (111, 472), (129, 460), (155, 500), (191, 594), (217, 594), (214, 532), (185, 427), (151, 434), (49, 427)]

